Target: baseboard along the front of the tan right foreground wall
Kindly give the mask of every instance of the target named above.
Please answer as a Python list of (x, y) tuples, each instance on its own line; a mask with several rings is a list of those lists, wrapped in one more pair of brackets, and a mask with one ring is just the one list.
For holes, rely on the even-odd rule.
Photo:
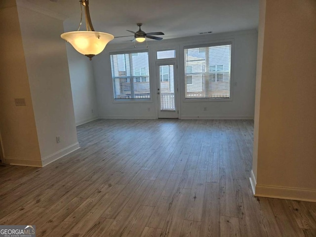
[(316, 190), (256, 185), (255, 197), (272, 197), (316, 202)]

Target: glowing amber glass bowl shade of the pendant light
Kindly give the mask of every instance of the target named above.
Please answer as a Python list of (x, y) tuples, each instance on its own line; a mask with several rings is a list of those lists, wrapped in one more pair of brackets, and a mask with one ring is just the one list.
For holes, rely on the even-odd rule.
[(62, 39), (68, 41), (83, 55), (97, 55), (114, 39), (114, 36), (97, 31), (72, 31), (61, 34)]

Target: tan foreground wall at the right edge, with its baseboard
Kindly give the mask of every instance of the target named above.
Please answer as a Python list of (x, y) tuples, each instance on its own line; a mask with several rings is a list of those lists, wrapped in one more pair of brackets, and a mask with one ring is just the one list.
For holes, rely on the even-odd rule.
[(316, 201), (316, 1), (261, 0), (260, 6), (255, 195)]

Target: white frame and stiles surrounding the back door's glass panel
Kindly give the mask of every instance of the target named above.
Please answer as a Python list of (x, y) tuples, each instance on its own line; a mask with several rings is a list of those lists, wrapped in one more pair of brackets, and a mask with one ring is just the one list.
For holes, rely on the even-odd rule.
[[(175, 100), (175, 113), (177, 116), (175, 117), (174, 114), (171, 116), (165, 116), (165, 117), (159, 117), (160, 115), (160, 96), (158, 96), (158, 88), (160, 87), (160, 70), (159, 66), (163, 65), (173, 65), (173, 80), (174, 80), (174, 100)], [(179, 96), (179, 77), (178, 77), (178, 62), (176, 58), (174, 59), (165, 59), (165, 60), (159, 60), (156, 61), (156, 100), (157, 100), (157, 117), (158, 118), (180, 118), (180, 96)], [(174, 111), (164, 111), (165, 115), (167, 115), (170, 112)]]

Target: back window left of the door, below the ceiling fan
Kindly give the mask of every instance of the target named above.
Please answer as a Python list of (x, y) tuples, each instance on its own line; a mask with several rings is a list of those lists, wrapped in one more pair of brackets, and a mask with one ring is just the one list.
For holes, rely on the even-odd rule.
[(148, 52), (110, 57), (114, 99), (150, 99)]

